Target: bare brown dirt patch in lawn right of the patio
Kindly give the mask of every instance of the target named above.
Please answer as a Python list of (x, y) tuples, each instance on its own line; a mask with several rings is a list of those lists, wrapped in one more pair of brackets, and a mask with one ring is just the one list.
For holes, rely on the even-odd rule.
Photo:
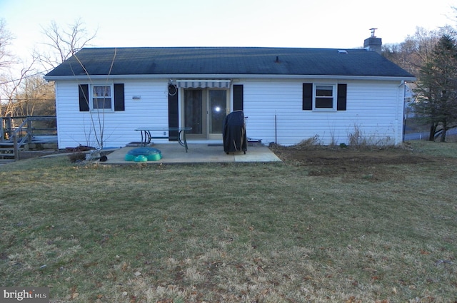
[(436, 161), (431, 156), (415, 155), (409, 148), (340, 148), (339, 146), (271, 145), (271, 150), (290, 165), (308, 168), (308, 175), (343, 176), (368, 180), (403, 178), (392, 165), (418, 165)]

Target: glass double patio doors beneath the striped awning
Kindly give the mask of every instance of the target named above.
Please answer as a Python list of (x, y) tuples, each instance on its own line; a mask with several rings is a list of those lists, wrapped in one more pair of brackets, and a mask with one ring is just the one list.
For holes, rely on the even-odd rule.
[(187, 138), (221, 140), (228, 99), (226, 90), (185, 89), (184, 125), (192, 128)]

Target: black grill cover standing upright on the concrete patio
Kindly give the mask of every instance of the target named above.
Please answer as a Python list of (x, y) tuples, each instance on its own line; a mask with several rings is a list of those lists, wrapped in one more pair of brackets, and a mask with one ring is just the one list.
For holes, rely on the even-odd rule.
[(248, 140), (243, 111), (233, 111), (226, 116), (222, 128), (222, 138), (224, 138), (224, 152), (243, 151), (246, 153)]

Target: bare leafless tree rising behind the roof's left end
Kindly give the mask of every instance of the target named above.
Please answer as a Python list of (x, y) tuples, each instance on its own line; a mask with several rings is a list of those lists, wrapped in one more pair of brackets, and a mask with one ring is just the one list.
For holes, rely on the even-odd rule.
[(43, 45), (49, 48), (49, 51), (35, 51), (34, 56), (38, 58), (46, 71), (55, 68), (84, 46), (89, 46), (89, 42), (95, 38), (96, 32), (89, 33), (81, 19), (70, 24), (68, 29), (61, 29), (56, 21), (51, 21), (47, 28), (43, 28), (43, 34), (48, 38)]

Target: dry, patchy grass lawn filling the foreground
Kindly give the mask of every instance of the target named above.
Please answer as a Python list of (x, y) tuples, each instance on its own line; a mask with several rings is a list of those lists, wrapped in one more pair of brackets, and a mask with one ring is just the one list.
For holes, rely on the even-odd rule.
[(0, 167), (0, 284), (51, 302), (456, 302), (457, 144)]

